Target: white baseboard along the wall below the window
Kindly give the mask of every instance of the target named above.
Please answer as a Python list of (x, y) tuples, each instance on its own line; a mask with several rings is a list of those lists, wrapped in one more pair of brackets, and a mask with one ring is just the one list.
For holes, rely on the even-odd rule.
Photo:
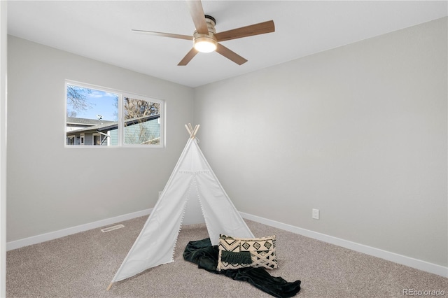
[(106, 218), (105, 220), (98, 220), (97, 222), (90, 222), (84, 225), (78, 225), (76, 227), (69, 227), (67, 229), (61, 229), (59, 231), (45, 233), (37, 236), (32, 236), (25, 239), (20, 239), (16, 241), (10, 241), (6, 243), (6, 250), (13, 250), (16, 248), (22, 248), (24, 246), (31, 246), (33, 244), (61, 238), (71, 234), (76, 234), (79, 232), (84, 232), (89, 229), (97, 229), (99, 227), (104, 227), (106, 225), (113, 225), (117, 222), (123, 222), (124, 220), (132, 220), (132, 218), (139, 218), (144, 215), (148, 215), (153, 211), (153, 208), (149, 208), (142, 211), (137, 211), (133, 213), (128, 213), (124, 215), (116, 216), (115, 218)]

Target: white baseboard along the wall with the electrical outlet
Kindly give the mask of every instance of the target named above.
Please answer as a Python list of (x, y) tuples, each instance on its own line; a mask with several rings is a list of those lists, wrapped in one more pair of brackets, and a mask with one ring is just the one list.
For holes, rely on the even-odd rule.
[(337, 246), (342, 246), (344, 248), (349, 248), (350, 250), (355, 250), (359, 253), (365, 253), (366, 255), (372, 255), (374, 257), (379, 257), (384, 260), (402, 264), (408, 267), (419, 269), (422, 271), (430, 272), (432, 274), (437, 274), (448, 278), (448, 267), (443, 267), (437, 264), (429, 263), (422, 260), (417, 260), (412, 257), (406, 257), (405, 255), (398, 255), (397, 253), (391, 253), (386, 250), (381, 250), (379, 248), (372, 248), (371, 246), (365, 246), (363, 244), (355, 243), (352, 241), (347, 241), (333, 236), (328, 236), (318, 232), (310, 231), (309, 229), (302, 229), (300, 227), (295, 227), (293, 225), (288, 225), (283, 222), (277, 222), (275, 220), (268, 220), (267, 218), (260, 218), (256, 215), (251, 215), (248, 213), (240, 212), (242, 218), (247, 220), (253, 220), (254, 222), (260, 222), (263, 225), (269, 225), (271, 227), (276, 227), (283, 229), (288, 232), (293, 232), (295, 234), (300, 234), (307, 236), (312, 239), (317, 239), (327, 243), (335, 244)]

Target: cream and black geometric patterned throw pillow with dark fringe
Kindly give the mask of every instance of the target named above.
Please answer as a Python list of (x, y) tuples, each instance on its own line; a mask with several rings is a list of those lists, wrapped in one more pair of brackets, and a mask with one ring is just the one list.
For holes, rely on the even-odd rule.
[(244, 267), (279, 267), (275, 257), (275, 236), (241, 239), (220, 235), (218, 271)]

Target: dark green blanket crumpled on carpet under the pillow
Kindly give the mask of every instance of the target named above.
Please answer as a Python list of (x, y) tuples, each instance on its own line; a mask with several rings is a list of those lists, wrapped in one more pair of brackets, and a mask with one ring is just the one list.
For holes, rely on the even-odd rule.
[(214, 274), (224, 274), (237, 281), (247, 281), (274, 297), (293, 297), (300, 291), (300, 281), (288, 283), (281, 277), (271, 276), (262, 268), (248, 267), (217, 271), (218, 246), (211, 246), (209, 238), (190, 241), (183, 252), (183, 259), (193, 262), (200, 269), (205, 269)]

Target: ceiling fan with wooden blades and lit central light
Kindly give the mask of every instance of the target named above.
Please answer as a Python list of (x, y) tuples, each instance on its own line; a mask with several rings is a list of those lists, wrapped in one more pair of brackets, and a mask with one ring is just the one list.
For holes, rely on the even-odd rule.
[(137, 33), (151, 34), (155, 36), (180, 38), (193, 41), (193, 48), (190, 50), (190, 52), (187, 53), (185, 57), (183, 57), (181, 62), (177, 64), (179, 66), (187, 65), (188, 62), (190, 62), (198, 52), (213, 51), (218, 52), (219, 54), (232, 60), (236, 64), (244, 64), (245, 62), (247, 62), (247, 59), (244, 59), (236, 52), (225, 48), (225, 46), (221, 45), (221, 43), (219, 42), (230, 41), (231, 39), (265, 34), (275, 31), (274, 21), (270, 20), (267, 22), (261, 22), (246, 27), (240, 27), (237, 29), (216, 33), (216, 20), (210, 15), (204, 15), (204, 9), (202, 8), (202, 3), (200, 0), (187, 0), (187, 6), (188, 10), (190, 10), (190, 15), (193, 18), (193, 22), (195, 23), (196, 27), (193, 36), (136, 29), (132, 29), (132, 31)]

